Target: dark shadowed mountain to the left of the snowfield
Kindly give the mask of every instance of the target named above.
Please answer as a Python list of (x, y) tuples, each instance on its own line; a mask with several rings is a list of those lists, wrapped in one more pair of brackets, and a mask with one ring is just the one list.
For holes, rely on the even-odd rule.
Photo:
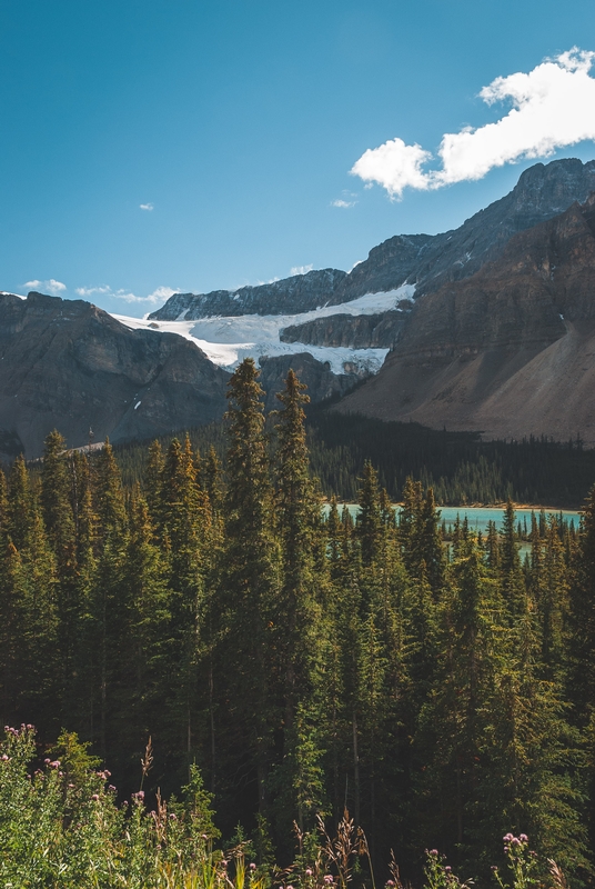
[(222, 416), (229, 373), (174, 333), (130, 330), (82, 300), (0, 296), (0, 451), (149, 438)]

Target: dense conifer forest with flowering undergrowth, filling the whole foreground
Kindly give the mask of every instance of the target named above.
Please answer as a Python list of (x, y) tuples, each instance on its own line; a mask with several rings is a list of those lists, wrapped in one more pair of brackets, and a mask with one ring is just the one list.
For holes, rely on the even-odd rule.
[(373, 455), (356, 521), (323, 511), (305, 387), (266, 419), (258, 377), (222, 447), (123, 480), (52, 432), (0, 476), (2, 886), (591, 885), (595, 488), (523, 557), (511, 500), (445, 541), (428, 478), (397, 513)]

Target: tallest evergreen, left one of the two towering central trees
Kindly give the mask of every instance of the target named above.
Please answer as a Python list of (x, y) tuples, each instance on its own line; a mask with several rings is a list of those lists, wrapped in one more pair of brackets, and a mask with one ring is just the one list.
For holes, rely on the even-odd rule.
[(224, 662), (215, 670), (215, 689), (219, 699), (229, 701), (221, 713), (219, 733), (236, 745), (233, 752), (221, 751), (218, 758), (231, 756), (236, 762), (243, 761), (248, 771), (253, 770), (259, 810), (265, 815), (273, 730), (280, 716), (274, 702), (281, 678), (274, 660), (271, 662), (279, 559), (273, 540), (264, 393), (258, 377), (254, 361), (246, 358), (229, 383), (225, 540), (213, 626), (219, 626), (221, 639), (218, 660)]

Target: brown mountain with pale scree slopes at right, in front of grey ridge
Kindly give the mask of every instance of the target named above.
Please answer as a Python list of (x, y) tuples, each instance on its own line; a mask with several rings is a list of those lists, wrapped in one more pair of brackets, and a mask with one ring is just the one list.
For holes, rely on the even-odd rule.
[(595, 198), (420, 298), (377, 377), (341, 409), (595, 444)]

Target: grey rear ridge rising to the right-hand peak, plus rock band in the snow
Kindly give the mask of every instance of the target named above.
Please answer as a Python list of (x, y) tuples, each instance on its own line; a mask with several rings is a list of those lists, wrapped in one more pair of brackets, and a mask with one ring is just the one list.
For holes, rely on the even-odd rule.
[[(374, 247), (363, 262), (347, 274), (337, 269), (310, 271), (281, 281), (236, 291), (216, 290), (205, 294), (175, 293), (149, 316), (155, 321), (200, 320), (220, 316), (275, 316), (310, 312), (319, 307), (352, 302), (365, 294), (406, 289), (403, 296), (438, 290), (447, 281), (475, 274), (502, 254), (507, 241), (520, 231), (552, 219), (574, 201), (584, 202), (595, 191), (595, 160), (576, 158), (536, 163), (525, 170), (515, 188), (504, 198), (467, 219), (460, 228), (441, 234), (397, 234)], [(396, 308), (396, 300), (391, 309)], [(390, 310), (391, 310), (390, 309)], [(325, 313), (324, 323), (289, 328), (281, 339), (304, 346), (355, 343), (357, 348), (386, 348), (399, 339), (400, 320), (372, 328), (359, 318), (334, 318)], [(396, 319), (393, 319), (395, 321)], [(363, 329), (370, 331), (366, 339)], [(324, 331), (329, 334), (324, 336)], [(394, 332), (394, 338), (391, 331)], [(317, 356), (320, 358), (320, 356)]]

